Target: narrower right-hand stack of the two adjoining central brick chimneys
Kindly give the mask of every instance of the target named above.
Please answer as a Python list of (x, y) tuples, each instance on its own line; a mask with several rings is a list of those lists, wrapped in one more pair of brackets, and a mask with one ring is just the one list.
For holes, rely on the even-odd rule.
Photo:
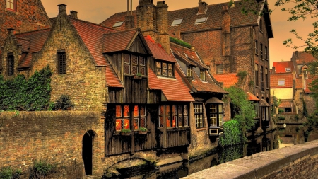
[(167, 16), (167, 4), (165, 1), (158, 1), (155, 11), (156, 27), (158, 31), (158, 42), (163, 46), (165, 52), (170, 54), (170, 35), (167, 33), (168, 16)]

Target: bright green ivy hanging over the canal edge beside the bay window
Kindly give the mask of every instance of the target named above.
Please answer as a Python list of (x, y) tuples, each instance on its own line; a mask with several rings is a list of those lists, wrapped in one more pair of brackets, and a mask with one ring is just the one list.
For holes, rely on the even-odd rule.
[(218, 138), (218, 145), (221, 147), (234, 146), (244, 142), (240, 124), (236, 120), (224, 122), (224, 135)]

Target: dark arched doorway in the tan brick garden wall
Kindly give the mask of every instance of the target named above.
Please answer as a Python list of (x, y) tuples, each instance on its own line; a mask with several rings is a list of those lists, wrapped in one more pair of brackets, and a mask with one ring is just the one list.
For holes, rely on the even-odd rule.
[(93, 132), (86, 132), (83, 136), (82, 157), (85, 166), (85, 174), (92, 175), (93, 169)]

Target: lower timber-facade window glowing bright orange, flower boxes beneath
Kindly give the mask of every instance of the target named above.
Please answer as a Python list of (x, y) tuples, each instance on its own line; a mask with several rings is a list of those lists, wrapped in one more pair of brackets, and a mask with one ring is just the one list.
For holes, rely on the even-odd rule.
[[(132, 128), (130, 128), (131, 119)], [(147, 127), (144, 105), (133, 105), (131, 108), (129, 108), (129, 105), (116, 105), (116, 131), (122, 129), (138, 130), (139, 127)]]

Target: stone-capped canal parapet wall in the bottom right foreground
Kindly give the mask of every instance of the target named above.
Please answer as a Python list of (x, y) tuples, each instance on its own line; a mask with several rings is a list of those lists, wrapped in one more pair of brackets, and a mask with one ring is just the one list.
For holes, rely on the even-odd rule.
[(317, 178), (318, 140), (261, 152), (223, 163), (186, 178)]

